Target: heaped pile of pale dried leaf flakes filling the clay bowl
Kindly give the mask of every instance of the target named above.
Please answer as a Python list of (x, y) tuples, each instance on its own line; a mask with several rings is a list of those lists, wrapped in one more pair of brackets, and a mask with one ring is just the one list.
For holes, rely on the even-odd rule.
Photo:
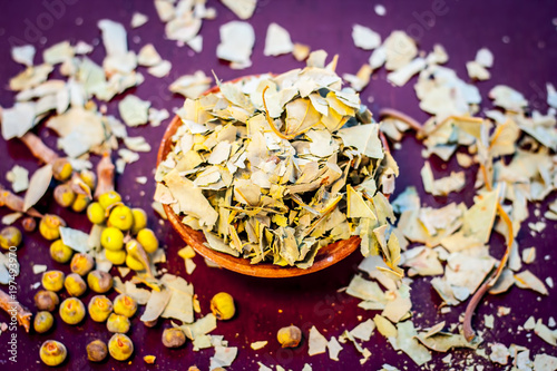
[(358, 94), (342, 89), (336, 59), (325, 67), (325, 57), (186, 99), (155, 199), (212, 248), (253, 264), (305, 269), (321, 247), (358, 235), (364, 256), (382, 254), (401, 276), (384, 196), (397, 164)]

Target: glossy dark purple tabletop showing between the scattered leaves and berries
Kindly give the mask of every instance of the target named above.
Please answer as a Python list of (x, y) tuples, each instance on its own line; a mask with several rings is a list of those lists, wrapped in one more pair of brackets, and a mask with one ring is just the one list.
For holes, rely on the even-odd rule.
[[(50, 7), (57, 3), (57, 8)], [(439, 3), (436, 1), (436, 3)], [(384, 1), (387, 16), (379, 17), (374, 13), (374, 1), (270, 1), (261, 0), (255, 14), (250, 20), (256, 32), (256, 43), (252, 56), (253, 67), (236, 71), (219, 62), (215, 57), (218, 43), (218, 26), (236, 19), (219, 2), (209, 1), (217, 9), (218, 17), (213, 21), (205, 21), (201, 33), (204, 37), (204, 50), (195, 55), (187, 47), (177, 47), (174, 41), (164, 39), (164, 26), (158, 20), (152, 1), (85, 1), (85, 0), (46, 0), (46, 1), (3, 1), (0, 9), (0, 49), (3, 50), (0, 64), (0, 105), (10, 107), (13, 101), (13, 92), (6, 87), (9, 77), (19, 72), (22, 67), (11, 61), (9, 48), (13, 42), (23, 41), (32, 43), (38, 49), (36, 62), (40, 61), (41, 50), (58, 41), (69, 39), (72, 43), (78, 40), (87, 42), (99, 42), (97, 21), (102, 18), (120, 21), (129, 25), (133, 11), (140, 11), (149, 16), (147, 25), (139, 29), (129, 30), (128, 41), (130, 49), (138, 51), (143, 45), (153, 42), (162, 57), (173, 62), (169, 77), (157, 79), (145, 72), (146, 80), (131, 92), (143, 99), (153, 101), (156, 108), (179, 107), (183, 99), (172, 96), (167, 86), (178, 76), (192, 74), (203, 69), (206, 74), (214, 70), (224, 80), (241, 75), (260, 72), (281, 72), (291, 68), (301, 67), (291, 56), (277, 58), (264, 57), (264, 38), (267, 23), (275, 21), (285, 27), (292, 36), (293, 41), (307, 43), (312, 49), (325, 49), (330, 55), (339, 53), (340, 61), (338, 72), (355, 72), (358, 68), (367, 62), (369, 52), (356, 49), (351, 39), (351, 27), (353, 23), (369, 26), (380, 32), (384, 38), (391, 30), (402, 29), (414, 36), (421, 50), (431, 50), (433, 43), (442, 43), (449, 52), (448, 66), (456, 69), (459, 76), (466, 79), (465, 62), (472, 60), (476, 51), (481, 47), (490, 48), (495, 53), (495, 66), (491, 69), (492, 78), (478, 86), (487, 104), (487, 91), (497, 84), (509, 85), (529, 99), (531, 107), (545, 110), (545, 82), (557, 82), (557, 29), (553, 19), (557, 17), (557, 4), (548, 1), (441, 1), (441, 13), (433, 17), (433, 22), (423, 22), (424, 12), (432, 14), (431, 1)], [(60, 6), (61, 4), (61, 6)], [(50, 9), (50, 10), (49, 10)], [(56, 17), (52, 17), (55, 9)], [(422, 19), (422, 21), (420, 21)], [(430, 18), (431, 20), (431, 18)], [(504, 42), (504, 38), (508, 42)], [(91, 58), (101, 61), (105, 51), (102, 47), (96, 48)], [(56, 76), (55, 74), (53, 76)], [(362, 92), (362, 100), (368, 101), (371, 110), (378, 113), (382, 107), (401, 109), (416, 118), (423, 120), (427, 115), (418, 107), (412, 85), (403, 88), (393, 88), (385, 81), (384, 70), (379, 71), (372, 79), (370, 86)], [(108, 104), (108, 111), (117, 114), (117, 101)], [(336, 266), (323, 272), (291, 280), (261, 280), (241, 276), (232, 272), (208, 269), (201, 257), (196, 257), (197, 269), (192, 276), (185, 275), (183, 260), (176, 256), (177, 250), (183, 247), (178, 235), (174, 233), (168, 224), (158, 224), (158, 217), (150, 211), (150, 199), (154, 192), (154, 183), (146, 185), (135, 183), (136, 176), (148, 176), (154, 172), (157, 144), (163, 135), (165, 125), (158, 128), (139, 127), (129, 129), (130, 136), (141, 135), (148, 138), (154, 146), (152, 153), (141, 155), (141, 160), (129, 165), (125, 176), (117, 179), (117, 189), (123, 193), (125, 199), (133, 206), (141, 206), (148, 211), (149, 224), (155, 227), (162, 236), (162, 243), (167, 246), (169, 257), (168, 270), (180, 274), (190, 281), (199, 296), (203, 312), (208, 312), (208, 301), (218, 291), (229, 292), (237, 302), (237, 315), (233, 321), (219, 323), (215, 334), (224, 334), (233, 346), (238, 346), (238, 357), (232, 370), (255, 369), (256, 362), (261, 361), (273, 367), (281, 364), (286, 369), (300, 370), (304, 363), (311, 363), (314, 370), (346, 370), (361, 369), (359, 354), (351, 344), (345, 344), (340, 354), (340, 361), (334, 362), (326, 354), (307, 357), (307, 339), (296, 350), (282, 350), (274, 340), (276, 330), (283, 325), (294, 323), (304, 330), (315, 325), (325, 336), (340, 335), (344, 329), (354, 328), (359, 321), (373, 316), (374, 312), (367, 312), (356, 306), (359, 300), (336, 290), (345, 286), (351, 276), (356, 272), (355, 266), (361, 261), (358, 253), (353, 254)], [(38, 133), (48, 144), (55, 145), (55, 136), (42, 127)], [(394, 152), (401, 176), (397, 183), (397, 192), (401, 192), (408, 185), (416, 185), (422, 195), (422, 202), (431, 206), (440, 206), (450, 201), (465, 199), (468, 204), (472, 197), (471, 188), (460, 194), (450, 195), (448, 198), (434, 198), (424, 196), (419, 176), (422, 166), (420, 157), (421, 146), (411, 138), (405, 137), (402, 149)], [(38, 165), (36, 160), (25, 150), (23, 145), (17, 140), (6, 143), (0, 140), (0, 182), (9, 186), (3, 174), (14, 164), (19, 164), (31, 172)], [(440, 162), (432, 162), (433, 170), (450, 169), (456, 166), (451, 160), (448, 166)], [(473, 184), (473, 170), (467, 172), (467, 184)], [(550, 197), (553, 199), (554, 196)], [(87, 231), (89, 224), (84, 215), (76, 215), (60, 209), (46, 197), (39, 205), (41, 211), (59, 213), (69, 221), (70, 226)], [(541, 206), (545, 211), (545, 206)], [(0, 216), (6, 211), (0, 211)], [(530, 221), (535, 217), (531, 216)], [(535, 245), (538, 248), (538, 258), (528, 266), (536, 275), (545, 279), (551, 276), (557, 281), (557, 264), (553, 251), (556, 225), (548, 222), (548, 227), (537, 237), (532, 237), (522, 228), (518, 235), (520, 246)], [(495, 256), (502, 253), (502, 240), (492, 238), (492, 251)], [(545, 260), (544, 256), (550, 256)], [(21, 263), (21, 275), (18, 277), (19, 300), (32, 309), (32, 295), (35, 291), (30, 284), (37, 282), (39, 276), (32, 274), (31, 264), (47, 264), (49, 269), (60, 269), (68, 272), (68, 266), (52, 263), (48, 256), (48, 244), (38, 235), (26, 235), (25, 245), (18, 252)], [(440, 304), (438, 295), (427, 283), (429, 280), (418, 280), (412, 285), (413, 312), (417, 324), (431, 325), (441, 320), (448, 323), (458, 321), (459, 313), (465, 306), (458, 306), (451, 313), (438, 315)], [(478, 311), (473, 324), (477, 329), (483, 329), (483, 314), (496, 314), (499, 305), (512, 307), (511, 313), (505, 318), (497, 318), (495, 329), (485, 333), (486, 343), (500, 341), (506, 345), (511, 343), (529, 346), (532, 354), (539, 352), (556, 353), (555, 348), (541, 342), (531, 334), (517, 332), (518, 325), (534, 314), (547, 320), (555, 315), (555, 290), (550, 290), (549, 297), (512, 287), (507, 294), (488, 296)], [(63, 296), (63, 295), (62, 295)], [(85, 297), (87, 303), (91, 295)], [(111, 292), (110, 297), (115, 296)], [(4, 313), (0, 313), (0, 321), (8, 321)], [(131, 339), (136, 344), (136, 352), (130, 363), (120, 363), (114, 360), (102, 364), (91, 364), (86, 360), (85, 345), (95, 338), (107, 341), (108, 332), (102, 324), (92, 323), (87, 320), (78, 326), (63, 324), (56, 315), (56, 329), (48, 334), (26, 334), (18, 330), (18, 363), (9, 362), (7, 354), (8, 333), (0, 335), (0, 367), (8, 370), (48, 369), (40, 364), (38, 350), (42, 341), (56, 339), (62, 341), (69, 349), (69, 360), (65, 368), (69, 370), (100, 370), (100, 369), (187, 369), (196, 364), (202, 370), (208, 368), (208, 360), (213, 355), (212, 350), (193, 352), (192, 344), (180, 350), (167, 350), (160, 344), (162, 329), (169, 325), (168, 322), (157, 328), (147, 329), (139, 323), (136, 316), (133, 320)], [(250, 343), (258, 340), (268, 340), (270, 343), (260, 351), (250, 349)], [(365, 364), (365, 369), (375, 370), (382, 363), (390, 363), (399, 368), (407, 367), (409, 370), (418, 369), (405, 354), (397, 353), (385, 340), (374, 334), (364, 343), (370, 348), (372, 358)], [(143, 357), (154, 354), (157, 357), (156, 364), (146, 365)], [(470, 354), (469, 351), (459, 350), (453, 352), (453, 359), (463, 360)], [(444, 368), (441, 358), (446, 354), (433, 354), (433, 362)], [(477, 358), (477, 357), (476, 357)], [(492, 365), (486, 361), (479, 363)], [(457, 367), (460, 369), (459, 367)]]

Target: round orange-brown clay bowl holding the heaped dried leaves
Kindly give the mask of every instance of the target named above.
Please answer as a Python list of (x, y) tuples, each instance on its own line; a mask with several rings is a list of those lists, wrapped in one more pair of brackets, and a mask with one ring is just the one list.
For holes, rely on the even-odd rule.
[[(218, 87), (213, 87), (205, 94), (215, 91), (218, 91)], [(175, 116), (168, 125), (158, 149), (157, 165), (163, 162), (163, 159), (166, 158), (167, 154), (170, 152), (173, 145), (170, 138), (174, 134), (176, 134), (176, 130), (180, 125), (182, 120), (178, 116)], [(383, 145), (385, 145), (384, 138), (382, 139)], [(174, 230), (178, 232), (186, 244), (192, 246), (199, 255), (229, 271), (256, 277), (282, 279), (317, 272), (342, 261), (360, 246), (360, 237), (358, 236), (352, 236), (349, 240), (338, 241), (333, 244), (324, 246), (317, 252), (313, 265), (306, 270), (302, 270), (299, 267), (283, 267), (271, 263), (251, 264), (246, 258), (219, 253), (211, 247), (205, 246), (204, 243), (206, 242), (206, 240), (203, 235), (203, 232), (195, 231), (189, 226), (184, 225), (180, 221), (180, 217), (176, 215), (176, 213), (174, 213), (170, 206), (163, 205), (163, 207)]]

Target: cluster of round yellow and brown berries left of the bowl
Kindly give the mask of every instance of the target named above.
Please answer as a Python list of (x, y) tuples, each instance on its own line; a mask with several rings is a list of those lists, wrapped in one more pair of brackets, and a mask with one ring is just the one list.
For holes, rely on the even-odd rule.
[[(104, 227), (100, 244), (106, 258), (113, 264), (126, 264), (135, 271), (150, 272), (148, 254), (157, 251), (158, 240), (155, 233), (147, 228), (145, 211), (124, 205), (121, 196), (115, 191), (106, 192), (97, 202), (91, 202), (86, 194), (75, 192), (76, 184), (90, 195), (96, 185), (95, 175), (82, 172), (78, 179), (74, 176), (67, 183), (58, 185), (55, 188), (57, 203), (63, 207), (71, 207), (75, 212), (87, 209), (88, 219)], [(52, 260), (62, 264), (70, 262), (72, 273), (67, 276), (60, 271), (49, 271), (43, 274), (45, 290), (35, 295), (39, 312), (35, 316), (33, 328), (38, 333), (48, 332), (55, 322), (51, 312), (56, 311), (58, 304), (61, 321), (68, 324), (80, 323), (86, 316), (86, 307), (78, 296), (85, 294), (89, 287), (99, 293), (89, 301), (87, 306), (89, 316), (95, 322), (106, 322), (107, 330), (114, 335), (108, 346), (101, 340), (90, 342), (87, 345), (88, 359), (100, 362), (109, 353), (114, 359), (125, 361), (134, 352), (134, 343), (125, 333), (130, 329), (129, 318), (136, 313), (137, 302), (126, 294), (116, 296), (114, 303), (106, 295), (101, 295), (113, 287), (111, 275), (94, 270), (95, 261), (90, 255), (75, 254), (74, 250), (60, 238), (60, 226), (66, 226), (61, 217), (47, 214), (40, 219), (39, 232), (46, 240), (52, 241), (50, 245)], [(17, 242), (18, 236), (13, 231), (6, 231), (6, 240), (8, 240), (6, 243)], [(84, 280), (86, 276), (87, 283)], [(70, 297), (60, 303), (57, 293), (63, 287)], [(40, 358), (48, 365), (58, 365), (66, 360), (67, 349), (58, 341), (48, 340), (40, 349)]]

